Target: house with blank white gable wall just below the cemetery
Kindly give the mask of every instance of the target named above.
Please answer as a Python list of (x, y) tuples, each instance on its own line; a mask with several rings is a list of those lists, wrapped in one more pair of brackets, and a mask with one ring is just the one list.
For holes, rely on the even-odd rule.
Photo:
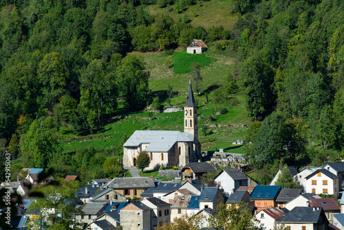
[(248, 186), (248, 177), (239, 169), (222, 169), (214, 178), (217, 185), (229, 196), (240, 186)]

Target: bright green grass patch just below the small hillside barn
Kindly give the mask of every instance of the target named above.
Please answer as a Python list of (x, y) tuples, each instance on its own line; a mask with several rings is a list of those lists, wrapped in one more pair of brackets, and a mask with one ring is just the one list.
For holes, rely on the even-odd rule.
[(216, 61), (212, 56), (208, 56), (206, 52), (203, 54), (188, 54), (186, 51), (173, 54), (173, 59), (173, 72), (175, 74), (189, 73), (193, 62), (200, 65), (200, 67), (206, 67)]

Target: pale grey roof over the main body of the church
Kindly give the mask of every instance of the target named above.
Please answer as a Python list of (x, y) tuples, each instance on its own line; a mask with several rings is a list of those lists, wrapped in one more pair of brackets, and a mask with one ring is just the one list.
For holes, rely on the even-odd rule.
[(136, 130), (123, 145), (138, 147), (141, 143), (149, 143), (143, 151), (169, 151), (176, 142), (193, 141), (193, 136), (179, 131)]

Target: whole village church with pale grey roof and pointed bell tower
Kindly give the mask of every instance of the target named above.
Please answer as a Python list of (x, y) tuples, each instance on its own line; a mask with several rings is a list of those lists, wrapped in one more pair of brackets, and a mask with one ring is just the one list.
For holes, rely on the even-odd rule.
[(136, 130), (123, 145), (123, 166), (136, 167), (141, 151), (151, 158), (147, 170), (184, 165), (196, 162), (201, 152), (198, 141), (197, 104), (193, 96), (191, 81), (184, 105), (184, 132), (160, 130)]

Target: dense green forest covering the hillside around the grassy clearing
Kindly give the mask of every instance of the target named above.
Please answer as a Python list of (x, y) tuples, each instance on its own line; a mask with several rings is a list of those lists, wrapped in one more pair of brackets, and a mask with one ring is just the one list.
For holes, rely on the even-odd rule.
[[(120, 175), (122, 143), (61, 159), (61, 127), (74, 136), (94, 134), (114, 116), (151, 105), (159, 94), (149, 88), (138, 52), (164, 52), (173, 68), (171, 55), (192, 39), (234, 59), (232, 70), (218, 76), (224, 84), (204, 85), (201, 96), (230, 104), (230, 95), (244, 94), (253, 167), (278, 165), (282, 157), (299, 166), (343, 157), (343, 1), (5, 0), (0, 6), (0, 147), (19, 159), (14, 169), (58, 166), (59, 158), (65, 165), (57, 176)], [(213, 16), (204, 17), (207, 10)]]

